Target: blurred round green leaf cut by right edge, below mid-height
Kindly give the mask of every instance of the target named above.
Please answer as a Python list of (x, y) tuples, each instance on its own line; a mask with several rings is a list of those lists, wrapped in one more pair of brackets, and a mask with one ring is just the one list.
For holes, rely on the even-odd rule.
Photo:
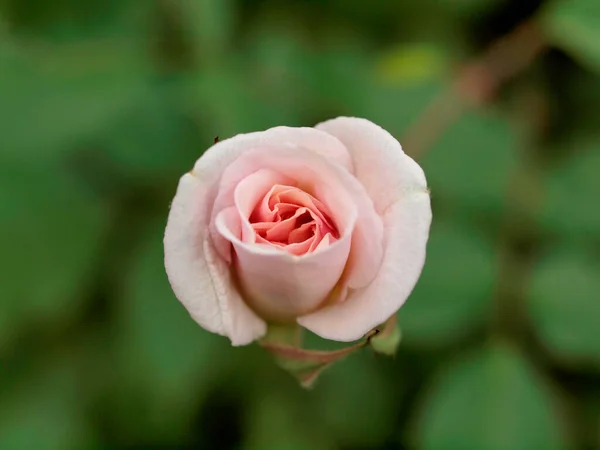
[(546, 255), (533, 274), (529, 311), (539, 337), (558, 357), (600, 368), (600, 265), (574, 250)]

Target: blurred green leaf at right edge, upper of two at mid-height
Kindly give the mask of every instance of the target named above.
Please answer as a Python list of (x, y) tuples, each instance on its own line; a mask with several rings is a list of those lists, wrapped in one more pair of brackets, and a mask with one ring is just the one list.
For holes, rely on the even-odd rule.
[(541, 225), (567, 238), (600, 236), (600, 145), (579, 142), (570, 158), (550, 170), (540, 214)]

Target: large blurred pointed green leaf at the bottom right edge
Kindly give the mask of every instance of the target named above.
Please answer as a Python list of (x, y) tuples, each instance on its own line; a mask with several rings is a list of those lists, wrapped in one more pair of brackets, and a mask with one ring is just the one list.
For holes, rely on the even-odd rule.
[(425, 450), (567, 448), (544, 380), (513, 348), (450, 364), (430, 387), (418, 429)]

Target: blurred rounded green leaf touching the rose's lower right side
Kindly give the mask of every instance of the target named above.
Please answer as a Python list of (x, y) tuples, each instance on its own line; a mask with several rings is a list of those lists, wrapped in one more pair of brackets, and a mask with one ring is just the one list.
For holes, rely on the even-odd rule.
[(455, 222), (434, 220), (427, 262), (398, 312), (406, 345), (446, 345), (489, 316), (494, 283), (492, 246)]

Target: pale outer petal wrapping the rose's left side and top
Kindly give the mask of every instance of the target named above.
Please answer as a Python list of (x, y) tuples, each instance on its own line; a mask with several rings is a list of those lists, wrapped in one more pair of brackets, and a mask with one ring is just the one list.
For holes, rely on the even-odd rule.
[(167, 275), (194, 320), (211, 332), (228, 336), (233, 345), (261, 337), (266, 324), (240, 297), (230, 266), (216, 251), (208, 226), (223, 171), (245, 151), (261, 145), (308, 149), (352, 170), (348, 152), (331, 135), (313, 128), (277, 127), (215, 144), (181, 178), (165, 231)]

